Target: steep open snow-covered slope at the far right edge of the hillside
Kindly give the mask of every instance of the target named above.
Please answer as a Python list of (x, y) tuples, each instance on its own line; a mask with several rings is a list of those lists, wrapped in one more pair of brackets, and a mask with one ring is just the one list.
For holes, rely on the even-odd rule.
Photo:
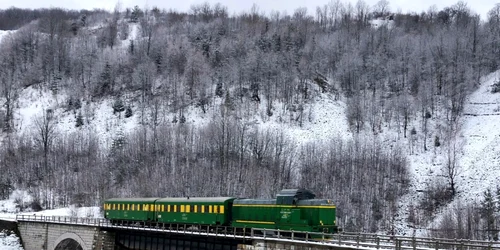
[(458, 185), (460, 197), (475, 199), (500, 184), (500, 93), (491, 85), (500, 72), (484, 78), (465, 106)]

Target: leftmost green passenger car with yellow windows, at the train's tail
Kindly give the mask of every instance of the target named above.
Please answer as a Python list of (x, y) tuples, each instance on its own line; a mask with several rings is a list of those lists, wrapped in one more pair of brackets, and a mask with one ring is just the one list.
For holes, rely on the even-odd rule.
[(111, 221), (151, 221), (158, 198), (113, 198), (104, 202), (104, 217)]

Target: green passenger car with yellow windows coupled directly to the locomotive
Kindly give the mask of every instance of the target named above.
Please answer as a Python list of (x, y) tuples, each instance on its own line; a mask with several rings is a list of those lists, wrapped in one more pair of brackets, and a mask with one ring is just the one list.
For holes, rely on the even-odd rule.
[(230, 225), (233, 197), (164, 198), (155, 202), (159, 223)]

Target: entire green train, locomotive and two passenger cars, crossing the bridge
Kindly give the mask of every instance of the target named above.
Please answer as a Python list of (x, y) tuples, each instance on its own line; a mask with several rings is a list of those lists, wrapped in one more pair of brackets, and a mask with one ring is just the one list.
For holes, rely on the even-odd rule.
[(276, 199), (234, 197), (113, 198), (104, 202), (111, 222), (168, 223), (334, 233), (336, 206), (305, 189), (284, 189)]

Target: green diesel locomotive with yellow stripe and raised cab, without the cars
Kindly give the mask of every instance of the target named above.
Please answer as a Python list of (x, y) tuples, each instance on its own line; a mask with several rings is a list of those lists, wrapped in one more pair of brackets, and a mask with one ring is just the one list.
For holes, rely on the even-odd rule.
[(237, 199), (233, 226), (334, 233), (336, 207), (304, 189), (282, 190), (276, 199)]

